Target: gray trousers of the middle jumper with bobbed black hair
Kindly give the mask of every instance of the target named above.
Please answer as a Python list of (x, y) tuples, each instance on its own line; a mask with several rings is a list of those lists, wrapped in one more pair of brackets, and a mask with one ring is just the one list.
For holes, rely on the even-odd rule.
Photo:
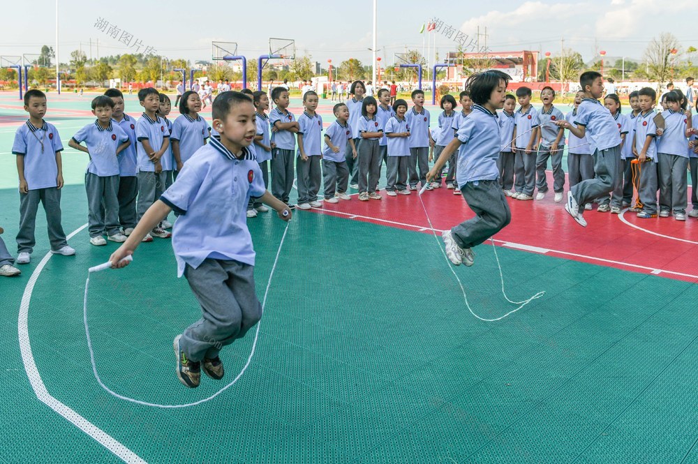
[(451, 229), (461, 248), (482, 244), (511, 222), (512, 213), (498, 179), (466, 182), (461, 186), (461, 193), (468, 207), (477, 214)]

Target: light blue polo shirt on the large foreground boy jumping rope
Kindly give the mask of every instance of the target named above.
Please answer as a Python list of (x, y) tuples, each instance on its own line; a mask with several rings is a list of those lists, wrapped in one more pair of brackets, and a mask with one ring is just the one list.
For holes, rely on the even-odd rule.
[(247, 228), (250, 197), (265, 193), (262, 171), (248, 149), (242, 158), (212, 138), (189, 158), (161, 200), (180, 216), (172, 229), (177, 276), (208, 257), (254, 266), (255, 250)]

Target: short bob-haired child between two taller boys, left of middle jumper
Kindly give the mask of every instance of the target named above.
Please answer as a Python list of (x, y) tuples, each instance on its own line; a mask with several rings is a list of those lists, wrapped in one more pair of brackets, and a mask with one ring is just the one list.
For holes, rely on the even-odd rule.
[[(395, 116), (385, 124), (385, 136), (388, 139), (387, 185), (385, 192), (389, 197), (410, 195), (408, 190), (408, 163), (410, 162), (410, 124), (405, 114), (407, 102), (402, 98), (393, 105)], [(397, 190), (397, 191), (396, 191)]]

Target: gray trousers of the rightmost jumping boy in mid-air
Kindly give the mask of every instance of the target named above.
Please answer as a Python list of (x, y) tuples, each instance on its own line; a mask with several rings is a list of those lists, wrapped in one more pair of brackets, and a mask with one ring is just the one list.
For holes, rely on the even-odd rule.
[(584, 204), (593, 202), (596, 198), (603, 197), (613, 191), (616, 185), (616, 177), (621, 165), (621, 146), (611, 147), (605, 150), (596, 150), (594, 157), (593, 179), (581, 181), (572, 187), (572, 196), (577, 200), (579, 211), (584, 211)]

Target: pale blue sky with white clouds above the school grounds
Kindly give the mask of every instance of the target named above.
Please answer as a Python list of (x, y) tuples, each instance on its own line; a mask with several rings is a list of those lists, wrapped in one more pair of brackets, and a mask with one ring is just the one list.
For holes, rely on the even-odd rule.
[[(373, 0), (311, 1), (302, 6), (265, 0), (58, 2), (61, 61), (67, 61), (70, 52), (81, 46), (89, 57), (90, 40), (93, 57), (97, 55), (97, 40), (101, 56), (135, 50), (96, 29), (100, 18), (131, 33), (143, 47), (152, 47), (172, 59), (210, 60), (212, 40), (237, 42), (239, 54), (256, 57), (268, 52), (268, 39), (273, 36), (295, 39), (297, 54), (309, 54), (323, 66), (327, 59), (334, 63), (350, 57), (371, 61)], [(436, 8), (426, 10), (426, 4)], [(487, 27), (487, 46), (493, 51), (556, 54), (564, 38), (565, 47), (580, 52), (585, 61), (600, 50), (608, 57), (641, 59), (648, 41), (664, 31), (674, 33), (683, 49), (698, 47), (692, 16), (681, 13), (694, 10), (692, 3), (674, 0), (669, 9), (662, 4), (656, 0), (378, 0), (378, 56), (391, 64), (395, 52), (422, 50), (426, 34), (420, 34), (419, 29), (431, 17), (439, 17), (470, 37), (475, 37), (478, 26), (483, 34)], [(43, 44), (55, 46), (55, 1), (33, 1), (31, 21), (20, 19), (28, 14), (26, 3), (6, 2), (3, 10), (6, 20), (0, 55), (38, 53)], [(484, 36), (480, 40), (484, 43)], [(441, 57), (455, 49), (453, 40), (436, 35)]]

